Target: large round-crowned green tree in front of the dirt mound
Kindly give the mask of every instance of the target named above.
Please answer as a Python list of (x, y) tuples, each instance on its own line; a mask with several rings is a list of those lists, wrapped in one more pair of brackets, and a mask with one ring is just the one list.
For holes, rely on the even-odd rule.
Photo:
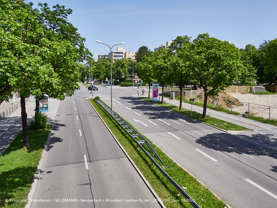
[(207, 97), (218, 95), (220, 90), (232, 85), (245, 68), (240, 51), (233, 44), (209, 37), (207, 33), (198, 35), (190, 50), (193, 77), (204, 89), (202, 118), (206, 118)]

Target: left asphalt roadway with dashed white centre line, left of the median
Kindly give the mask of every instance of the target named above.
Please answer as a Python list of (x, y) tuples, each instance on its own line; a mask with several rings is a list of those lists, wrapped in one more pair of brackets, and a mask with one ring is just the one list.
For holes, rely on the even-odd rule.
[(59, 105), (32, 207), (161, 207), (80, 88)]

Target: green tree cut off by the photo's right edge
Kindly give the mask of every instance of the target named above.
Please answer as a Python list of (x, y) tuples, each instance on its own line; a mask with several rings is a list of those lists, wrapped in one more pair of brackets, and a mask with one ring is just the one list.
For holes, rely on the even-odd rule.
[(271, 40), (263, 57), (267, 83), (277, 84), (277, 39)]

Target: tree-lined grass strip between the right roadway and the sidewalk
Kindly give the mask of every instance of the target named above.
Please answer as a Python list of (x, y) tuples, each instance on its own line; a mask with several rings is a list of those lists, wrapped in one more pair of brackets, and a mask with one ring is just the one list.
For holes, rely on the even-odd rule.
[[(161, 104), (161, 101), (152, 102), (152, 100), (148, 100), (148, 98), (141, 98), (141, 99), (145, 100), (145, 101), (148, 101), (150, 103), (162, 106), (166, 109), (175, 111), (175, 112), (180, 113), (182, 115), (188, 116), (190, 118), (194, 118), (195, 120), (207, 123), (207, 124), (212, 125), (212, 126), (216, 126), (217, 128), (221, 128), (221, 129), (224, 129), (224, 130), (234, 130), (234, 131), (250, 130), (250, 129), (245, 128), (243, 126), (239, 126), (239, 125), (236, 125), (236, 124), (233, 124), (233, 123), (229, 123), (227, 121), (223, 121), (223, 120), (220, 120), (220, 119), (217, 119), (217, 118), (213, 118), (211, 116), (206, 116), (206, 118), (202, 118), (201, 113), (197, 113), (197, 112), (194, 112), (194, 111), (192, 111), (192, 115), (191, 115), (190, 110), (187, 110), (187, 109), (184, 109), (184, 108), (182, 108), (182, 110), (179, 110), (179, 106), (171, 105), (171, 104), (166, 103), (166, 102)], [(223, 125), (223, 128), (220, 124), (217, 124), (217, 123), (214, 123), (214, 122), (221, 123)]]

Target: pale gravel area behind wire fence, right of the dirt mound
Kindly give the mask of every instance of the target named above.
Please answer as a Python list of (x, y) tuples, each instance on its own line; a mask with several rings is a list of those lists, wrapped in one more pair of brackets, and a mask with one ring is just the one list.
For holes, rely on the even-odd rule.
[(270, 119), (277, 120), (277, 94), (276, 95), (255, 95), (251, 93), (230, 93), (232, 97), (238, 99), (243, 103), (243, 106), (233, 107), (234, 111), (239, 113), (245, 113), (249, 110), (251, 115), (261, 116), (263, 118), (269, 118), (269, 106), (270, 107)]

